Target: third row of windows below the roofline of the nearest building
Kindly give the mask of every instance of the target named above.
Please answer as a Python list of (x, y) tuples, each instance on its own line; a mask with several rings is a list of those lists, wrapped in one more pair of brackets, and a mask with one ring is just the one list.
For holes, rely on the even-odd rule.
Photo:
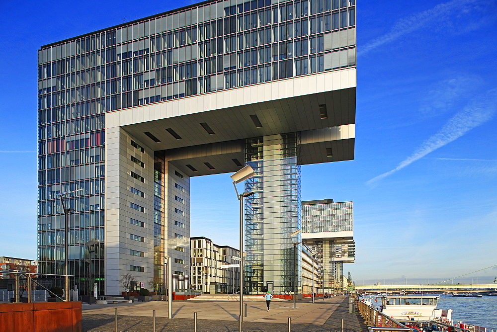
[[(323, 31), (331, 30), (327, 29), (326, 25), (324, 26), (324, 29), (322, 29), (320, 26), (321, 25), (318, 25), (316, 31), (311, 31), (311, 32), (320, 33)], [(224, 56), (224, 63), (225, 63), (224, 69), (229, 70), (237, 68), (240, 69), (250, 65), (267, 63), (271, 61), (271, 59), (281, 60), (284, 59), (285, 57), (291, 58), (294, 56), (313, 54), (323, 50), (326, 51), (331, 49), (338, 49), (339, 47), (355, 45), (355, 28), (348, 30), (345, 29), (342, 31), (335, 31), (333, 33), (328, 32), (324, 35), (323, 34), (312, 35), (310, 38), (302, 38), (302, 40), (300, 38), (292, 39), (294, 38), (293, 27), (291, 27), (291, 30), (287, 31), (287, 29), (289, 28), (290, 27), (285, 27), (285, 26), (278, 27), (277, 30), (273, 32), (273, 34), (269, 35), (265, 34), (264, 31), (259, 31), (259, 32), (254, 31), (250, 34), (247, 34), (246, 36), (234, 35), (228, 38), (221, 37), (218, 38), (215, 42), (213, 41), (212, 43), (206, 42), (194, 45), (192, 47), (190, 46), (180, 47), (178, 49), (170, 50), (167, 52), (165, 51), (162, 54), (161, 53), (152, 54), (150, 56), (137, 58), (134, 60), (130, 59), (128, 61), (117, 62), (116, 64), (101, 66), (93, 68), (91, 70), (88, 69), (86, 71), (84, 70), (81, 72), (78, 71), (76, 74), (68, 74), (67, 76), (63, 75), (61, 77), (57, 77), (57, 80), (53, 79), (51, 80), (51, 82), (56, 83), (57, 90), (69, 89), (85, 84), (105, 81), (116, 77), (137, 74), (140, 72), (147, 72), (150, 70), (154, 70), (156, 68), (170, 66), (185, 61), (196, 60), (197, 58), (202, 59), (205, 57), (206, 58), (205, 62), (199, 61), (198, 70), (196, 69), (197, 68), (196, 62), (193, 62), (191, 65), (195, 67), (190, 70), (192, 72), (191, 77), (196, 77), (204, 75), (204, 72), (206, 75), (209, 74), (209, 71), (211, 73), (216, 72), (216, 69), (213, 70), (212, 68), (210, 68), (215, 66), (216, 64), (214, 58), (211, 59), (210, 66), (205, 65), (206, 67), (205, 70), (203, 64), (204, 63), (207, 64), (207, 61), (209, 61), (210, 56), (214, 56), (217, 54), (222, 55), (223, 53), (227, 53), (227, 55)], [(271, 31), (268, 30), (268, 32)], [(308, 34), (307, 31), (305, 31), (305, 34), (306, 35)], [(284, 40), (287, 39), (287, 35), (289, 41), (287, 42), (288, 45), (285, 47)], [(272, 38), (271, 36), (274, 36), (274, 38)], [(341, 38), (342, 40), (340, 40), (339, 38)], [(283, 41), (283, 42), (274, 43), (272, 45), (266, 46), (265, 48), (259, 47), (258, 58), (255, 56), (255, 50), (256, 50), (255, 47), (278, 41)], [(293, 46), (294, 43), (295, 46)], [(249, 50), (248, 48), (250, 47), (252, 47), (253, 49)], [(283, 48), (283, 51), (280, 50), (281, 48)], [(285, 49), (287, 50), (286, 54), (285, 54)], [(236, 52), (237, 50), (239, 51), (238, 53)], [(244, 52), (240, 52), (241, 50), (244, 50)], [(230, 55), (229, 54), (230, 52), (233, 53)], [(249, 52), (253, 53), (253, 55), (250, 55), (250, 57), (248, 56)], [(230, 63), (230, 57), (231, 57), (231, 63)], [(236, 60), (237, 57), (238, 61)], [(222, 58), (218, 56), (218, 59)], [(249, 62), (249, 59), (252, 60)], [(188, 64), (188, 66), (190, 65)], [(218, 67), (217, 72), (223, 70), (222, 65), (219, 65), (217, 67)], [(163, 69), (163, 71), (165, 71), (165, 69)], [(133, 85), (128, 84), (129, 85), (128, 87), (126, 87), (125, 81), (123, 81), (122, 84), (124, 85), (125, 89), (127, 88), (129, 90), (133, 88), (143, 88), (147, 86), (152, 86), (154, 84), (166, 83), (166, 75), (163, 75), (163, 77), (164, 77), (163, 81), (160, 81), (158, 78), (155, 78), (154, 79), (155, 82), (151, 83), (149, 82), (149, 77), (146, 75), (145, 80), (142, 77), (142, 79), (138, 80), (136, 84)], [(172, 79), (172, 74), (170, 75), (170, 77)], [(118, 85), (121, 85), (121, 83), (119, 83)], [(118, 90), (119, 87), (120, 86), (118, 86)], [(49, 90), (52, 92), (51, 94), (50, 92), (48, 92), (49, 93), (48, 95), (39, 96), (39, 108), (53, 107), (56, 105), (78, 102), (85, 99), (93, 99), (113, 94), (116, 92), (116, 87), (115, 85), (112, 84), (111, 81), (108, 81), (106, 83), (86, 85), (81, 88), (77, 88), (76, 90), (74, 90), (75, 92), (71, 92), (68, 90), (69, 92), (59, 91), (55, 93), (56, 91), (54, 90), (53, 87)], [(42, 91), (44, 90), (40, 90), (40, 92)]]

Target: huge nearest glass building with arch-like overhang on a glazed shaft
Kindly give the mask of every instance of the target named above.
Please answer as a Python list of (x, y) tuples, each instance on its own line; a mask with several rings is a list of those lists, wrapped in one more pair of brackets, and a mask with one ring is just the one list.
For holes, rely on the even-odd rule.
[(355, 0), (204, 1), (42, 46), (39, 270), (64, 271), (55, 195), (83, 189), (67, 199), (80, 289), (90, 251), (106, 294), (163, 278), (165, 256), (182, 271), (190, 177), (248, 163), (246, 286), (287, 290), (300, 166), (354, 156), (355, 58)]

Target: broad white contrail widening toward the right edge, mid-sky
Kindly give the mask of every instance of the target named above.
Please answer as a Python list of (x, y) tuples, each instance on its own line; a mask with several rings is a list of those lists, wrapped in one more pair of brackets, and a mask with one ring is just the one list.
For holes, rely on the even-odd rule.
[(459, 137), (466, 134), (469, 130), (489, 121), (496, 112), (496, 99), (497, 89), (489, 90), (483, 96), (475, 98), (475, 101), (449, 119), (436, 134), (424, 141), (410, 157), (401, 162), (394, 169), (378, 175), (366, 183), (372, 184), (375, 181), (378, 181), (408, 165), (411, 165), (416, 160), (423, 158), (430, 152), (455, 141)]

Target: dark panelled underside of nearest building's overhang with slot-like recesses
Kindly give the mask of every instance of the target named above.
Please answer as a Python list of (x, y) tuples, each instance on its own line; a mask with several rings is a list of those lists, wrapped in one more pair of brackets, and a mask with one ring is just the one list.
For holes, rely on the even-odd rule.
[[(355, 123), (356, 88), (140, 122), (123, 128), (155, 151)], [(325, 162), (325, 161), (322, 161)]]

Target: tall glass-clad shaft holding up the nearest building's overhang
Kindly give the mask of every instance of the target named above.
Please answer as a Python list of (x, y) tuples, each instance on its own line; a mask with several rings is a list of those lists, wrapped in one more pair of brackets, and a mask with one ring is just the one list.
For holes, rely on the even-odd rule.
[[(301, 229), (299, 137), (297, 133), (246, 140), (246, 162), (255, 176), (245, 182), (246, 288), (282, 294), (293, 290), (294, 246)], [(300, 235), (295, 242), (301, 242)], [(297, 269), (301, 276), (300, 246)], [(297, 280), (301, 284), (300, 277)]]

